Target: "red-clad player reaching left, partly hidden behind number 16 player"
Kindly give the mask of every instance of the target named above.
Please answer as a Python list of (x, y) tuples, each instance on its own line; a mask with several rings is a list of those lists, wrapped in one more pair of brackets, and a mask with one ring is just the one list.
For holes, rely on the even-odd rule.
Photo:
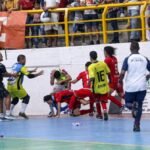
[(76, 90), (76, 97), (81, 97), (81, 98), (86, 98), (89, 97), (90, 98), (90, 116), (93, 116), (93, 104), (94, 104), (94, 98), (92, 96), (92, 92), (90, 90), (90, 86), (89, 86), (89, 74), (88, 74), (88, 67), (91, 65), (91, 62), (87, 62), (85, 64), (85, 71), (79, 73), (79, 75), (77, 76), (77, 78), (75, 80), (72, 80), (71, 83), (75, 84), (78, 81), (82, 81), (82, 86), (83, 88), (80, 90)]

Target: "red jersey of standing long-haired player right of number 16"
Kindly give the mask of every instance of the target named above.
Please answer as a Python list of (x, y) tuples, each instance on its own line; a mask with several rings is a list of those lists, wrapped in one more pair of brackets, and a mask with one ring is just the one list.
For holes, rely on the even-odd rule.
[(118, 71), (118, 61), (115, 56), (106, 57), (105, 63), (110, 69), (110, 78), (112, 83), (118, 83), (119, 81), (119, 71)]

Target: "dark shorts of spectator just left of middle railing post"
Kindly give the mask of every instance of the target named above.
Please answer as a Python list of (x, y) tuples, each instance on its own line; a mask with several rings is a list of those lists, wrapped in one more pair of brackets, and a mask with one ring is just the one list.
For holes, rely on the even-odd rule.
[[(95, 20), (98, 19), (98, 15), (97, 14), (85, 14), (84, 15), (84, 20)], [(98, 22), (86, 22), (85, 23), (87, 28), (91, 28), (91, 27), (95, 27), (98, 28)]]

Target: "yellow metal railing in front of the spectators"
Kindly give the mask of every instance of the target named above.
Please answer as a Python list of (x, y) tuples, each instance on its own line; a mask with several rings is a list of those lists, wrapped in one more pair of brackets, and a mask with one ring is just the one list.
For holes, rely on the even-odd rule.
[[(39, 36), (26, 36), (25, 38), (41, 38), (41, 37), (64, 37), (65, 38), (65, 45), (69, 46), (69, 37), (70, 36), (81, 36), (81, 35), (94, 35), (94, 34), (101, 34), (103, 37), (103, 43), (106, 44), (108, 42), (108, 35), (112, 34), (114, 32), (131, 32), (131, 31), (140, 31), (141, 32), (141, 39), (142, 41), (146, 41), (146, 30), (150, 30), (150, 28), (146, 28), (146, 18), (150, 17), (150, 15), (145, 15), (145, 11), (147, 6), (150, 5), (150, 1), (142, 1), (142, 2), (135, 2), (135, 3), (117, 3), (117, 4), (100, 4), (98, 6), (89, 6), (89, 7), (73, 7), (73, 8), (59, 8), (59, 9), (53, 9), (49, 10), (50, 12), (63, 12), (64, 13), (64, 22), (53, 22), (53, 23), (38, 23), (38, 24), (27, 24), (26, 26), (40, 26), (40, 25), (64, 25), (64, 34), (58, 34), (58, 35), (39, 35)], [(139, 16), (133, 16), (133, 17), (118, 17), (118, 18), (108, 18), (107, 14), (110, 8), (122, 8), (122, 7), (129, 7), (129, 6), (142, 6), (141, 13)], [(101, 18), (95, 19), (95, 20), (81, 20), (81, 21), (70, 21), (69, 20), (69, 14), (71, 12), (75, 11), (84, 11), (84, 10), (102, 10)], [(30, 10), (26, 11), (29, 14), (34, 13), (42, 13), (43, 10)], [(109, 30), (107, 28), (108, 23), (111, 20), (122, 20), (129, 22), (132, 18), (139, 18), (141, 21), (141, 27), (136, 29), (119, 29), (119, 30)], [(69, 32), (69, 25), (74, 23), (86, 23), (86, 22), (99, 22), (101, 24), (101, 31), (98, 32), (84, 32), (84, 33), (70, 33)]]

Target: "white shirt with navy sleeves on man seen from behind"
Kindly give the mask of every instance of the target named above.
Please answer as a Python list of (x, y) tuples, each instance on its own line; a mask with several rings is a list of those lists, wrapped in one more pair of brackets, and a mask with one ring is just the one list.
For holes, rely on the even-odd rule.
[(127, 72), (125, 91), (137, 92), (146, 90), (147, 70), (150, 71), (149, 60), (141, 54), (132, 54), (124, 60), (122, 70)]

